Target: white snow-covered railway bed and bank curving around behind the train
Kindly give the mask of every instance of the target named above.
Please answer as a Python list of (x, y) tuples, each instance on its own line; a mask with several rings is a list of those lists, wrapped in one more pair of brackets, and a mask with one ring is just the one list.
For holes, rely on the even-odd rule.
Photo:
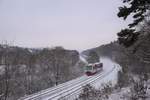
[(22, 97), (19, 100), (74, 100), (86, 84), (91, 84), (95, 88), (100, 88), (102, 84), (108, 82), (115, 85), (120, 66), (108, 58), (102, 58), (101, 62), (103, 62), (104, 68), (100, 73), (93, 76), (83, 75), (58, 86)]

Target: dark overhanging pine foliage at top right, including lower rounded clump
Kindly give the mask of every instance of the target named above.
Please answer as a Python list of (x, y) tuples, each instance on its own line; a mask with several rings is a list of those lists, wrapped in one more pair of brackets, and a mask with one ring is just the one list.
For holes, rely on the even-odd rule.
[(136, 40), (141, 38), (139, 34), (144, 34), (144, 32), (135, 32), (131, 28), (134, 28), (145, 20), (149, 21), (150, 0), (123, 0), (123, 3), (125, 5), (119, 7), (118, 17), (126, 20), (128, 16), (133, 15), (133, 22), (128, 25), (129, 29), (121, 30), (117, 35), (120, 44), (123, 44), (125, 47), (130, 47)]

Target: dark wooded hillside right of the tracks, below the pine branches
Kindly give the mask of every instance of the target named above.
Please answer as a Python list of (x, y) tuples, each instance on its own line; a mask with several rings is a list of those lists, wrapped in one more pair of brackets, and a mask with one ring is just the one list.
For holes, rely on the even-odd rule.
[(130, 48), (125, 48), (117, 41), (96, 48), (85, 50), (82, 53), (89, 55), (91, 51), (100, 57), (109, 57), (118, 62), (124, 72), (135, 74), (150, 73), (150, 35), (144, 35)]

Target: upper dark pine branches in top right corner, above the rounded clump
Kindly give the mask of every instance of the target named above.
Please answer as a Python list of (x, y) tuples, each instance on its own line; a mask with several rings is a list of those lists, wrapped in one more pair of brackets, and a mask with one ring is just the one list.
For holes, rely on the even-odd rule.
[(119, 7), (118, 17), (123, 17), (125, 20), (132, 14), (134, 20), (129, 24), (130, 28), (142, 22), (150, 10), (150, 0), (123, 0), (123, 3), (129, 4), (129, 6)]

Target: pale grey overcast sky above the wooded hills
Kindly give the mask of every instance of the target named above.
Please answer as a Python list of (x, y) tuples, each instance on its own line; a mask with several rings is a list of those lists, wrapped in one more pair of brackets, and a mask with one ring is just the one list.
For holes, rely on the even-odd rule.
[(122, 0), (0, 0), (0, 41), (84, 50), (117, 39)]

